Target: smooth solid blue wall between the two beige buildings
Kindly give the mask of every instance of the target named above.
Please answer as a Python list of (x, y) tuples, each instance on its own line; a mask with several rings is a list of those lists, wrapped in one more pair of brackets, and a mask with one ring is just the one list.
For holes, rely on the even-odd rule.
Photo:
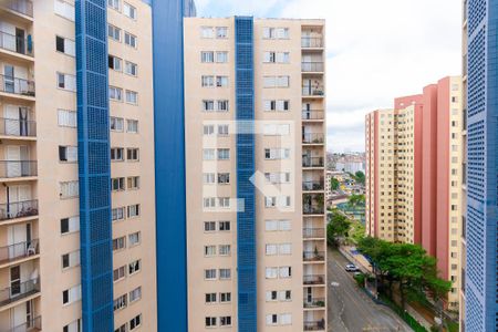
[(193, 0), (152, 1), (157, 331), (187, 331), (184, 15)]

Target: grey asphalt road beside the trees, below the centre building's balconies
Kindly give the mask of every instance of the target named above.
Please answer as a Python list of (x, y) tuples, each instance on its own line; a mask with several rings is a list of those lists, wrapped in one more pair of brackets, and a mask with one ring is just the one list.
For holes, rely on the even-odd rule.
[(339, 251), (329, 249), (329, 332), (412, 331), (391, 309), (376, 304), (356, 286), (352, 273), (344, 270), (346, 263)]

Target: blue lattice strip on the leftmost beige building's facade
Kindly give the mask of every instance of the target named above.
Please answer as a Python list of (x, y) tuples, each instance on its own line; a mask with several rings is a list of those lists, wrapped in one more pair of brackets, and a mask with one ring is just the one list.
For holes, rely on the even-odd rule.
[(84, 332), (114, 331), (106, 6), (75, 1)]

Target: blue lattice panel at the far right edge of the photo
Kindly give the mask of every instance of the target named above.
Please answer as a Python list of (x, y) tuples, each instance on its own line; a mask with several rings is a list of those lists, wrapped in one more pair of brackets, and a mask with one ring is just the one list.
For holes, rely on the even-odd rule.
[(498, 0), (468, 1), (466, 331), (498, 331)]

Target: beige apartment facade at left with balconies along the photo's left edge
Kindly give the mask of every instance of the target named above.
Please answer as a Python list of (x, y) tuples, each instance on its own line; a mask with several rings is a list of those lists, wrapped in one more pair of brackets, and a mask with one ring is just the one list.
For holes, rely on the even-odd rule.
[(0, 330), (154, 331), (151, 6), (0, 6)]

